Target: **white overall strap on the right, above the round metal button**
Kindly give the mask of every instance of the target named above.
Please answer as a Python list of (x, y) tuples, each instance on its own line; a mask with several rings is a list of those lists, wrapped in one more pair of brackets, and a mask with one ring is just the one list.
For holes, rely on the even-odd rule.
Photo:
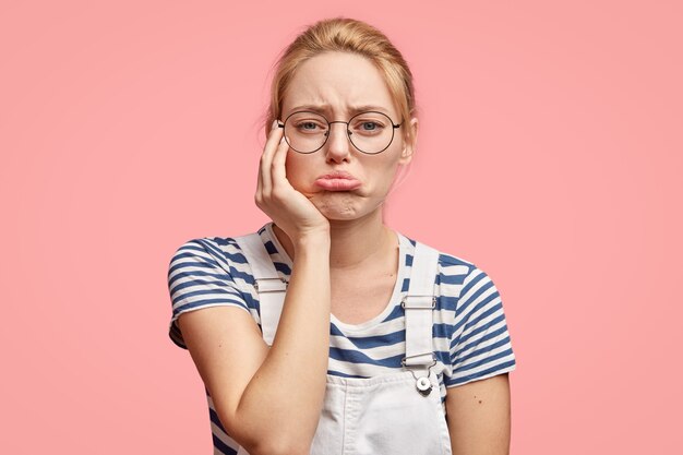
[(439, 271), (439, 251), (416, 242), (410, 271), (410, 286), (400, 306), (406, 312), (405, 367), (434, 364), (433, 309), (436, 306), (434, 284)]

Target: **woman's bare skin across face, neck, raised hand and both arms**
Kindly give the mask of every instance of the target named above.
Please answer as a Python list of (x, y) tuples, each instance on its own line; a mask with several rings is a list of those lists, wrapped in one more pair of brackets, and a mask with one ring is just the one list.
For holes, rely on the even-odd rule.
[[(284, 98), (280, 120), (301, 104), (325, 104), (328, 120), (347, 121), (351, 107), (372, 104), (400, 121), (379, 70), (350, 53), (323, 53), (301, 64)], [(398, 133), (404, 128), (412, 130), (411, 142)], [(331, 314), (356, 323), (386, 306), (398, 252), (382, 205), (397, 169), (412, 158), (417, 129), (417, 119), (406, 119), (379, 155), (356, 151), (338, 123), (326, 145), (310, 155), (290, 151), (283, 129), (268, 132), (254, 202), (273, 219), (275, 235), (292, 259), (273, 346), (237, 308), (207, 308), (178, 319), (218, 418), (250, 454), (310, 453), (325, 393)], [(362, 184), (347, 192), (314, 185), (332, 170), (348, 171)], [(352, 295), (360, 283), (366, 283), (360, 291), (371, 298)], [(358, 301), (372, 303), (361, 307)], [(501, 378), (448, 390), (454, 455), (506, 453), (508, 390)]]

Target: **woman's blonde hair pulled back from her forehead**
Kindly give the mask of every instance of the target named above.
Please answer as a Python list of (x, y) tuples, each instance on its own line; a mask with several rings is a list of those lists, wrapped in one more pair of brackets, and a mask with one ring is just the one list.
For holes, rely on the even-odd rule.
[[(382, 73), (398, 108), (402, 124), (408, 127), (417, 113), (412, 73), (402, 53), (379, 29), (362, 21), (346, 17), (326, 19), (303, 31), (284, 50), (276, 62), (271, 84), (271, 105), (264, 121), (266, 131), (279, 118), (285, 92), (297, 68), (323, 52), (339, 51), (360, 55)], [(402, 128), (404, 137), (411, 139), (410, 128)]]

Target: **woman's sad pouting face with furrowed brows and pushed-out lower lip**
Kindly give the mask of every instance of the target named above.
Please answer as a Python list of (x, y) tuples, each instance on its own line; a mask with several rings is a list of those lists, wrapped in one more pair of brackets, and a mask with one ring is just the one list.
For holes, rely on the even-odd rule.
[[(287, 152), (287, 179), (328, 219), (357, 219), (380, 209), (398, 167), (412, 157), (415, 140), (406, 142), (402, 130), (410, 128), (411, 137), (417, 136), (417, 119), (400, 118), (380, 70), (364, 57), (348, 52), (307, 60), (285, 92), (280, 120), (301, 110), (319, 112), (329, 122), (347, 122), (360, 111), (372, 110), (400, 123), (390, 146), (376, 155), (358, 151), (349, 142), (345, 123), (332, 123), (325, 145), (314, 153)], [(375, 127), (367, 122), (360, 128)]]

